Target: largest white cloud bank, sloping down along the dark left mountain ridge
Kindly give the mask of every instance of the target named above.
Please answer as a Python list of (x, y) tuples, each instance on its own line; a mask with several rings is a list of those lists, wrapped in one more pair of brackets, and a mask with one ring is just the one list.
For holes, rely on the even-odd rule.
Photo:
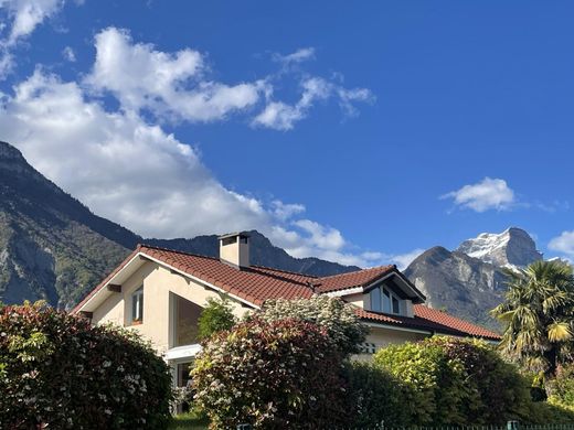
[(298, 218), (301, 204), (269, 204), (227, 190), (192, 147), (130, 111), (107, 111), (74, 82), (38, 69), (4, 96), (3, 139), (95, 213), (147, 237), (256, 228), (296, 257), (375, 266), (331, 227)]

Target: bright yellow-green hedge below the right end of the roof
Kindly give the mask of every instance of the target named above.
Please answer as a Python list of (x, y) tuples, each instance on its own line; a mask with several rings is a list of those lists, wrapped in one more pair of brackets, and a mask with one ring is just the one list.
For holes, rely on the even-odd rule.
[(432, 337), (383, 348), (374, 361), (407, 387), (403, 401), (412, 417), (405, 424), (529, 420), (525, 379), (486, 343)]

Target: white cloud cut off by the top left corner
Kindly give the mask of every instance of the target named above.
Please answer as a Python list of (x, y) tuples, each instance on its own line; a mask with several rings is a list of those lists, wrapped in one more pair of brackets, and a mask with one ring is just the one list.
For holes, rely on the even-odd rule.
[(0, 39), (0, 78), (13, 68), (14, 45), (29, 36), (34, 29), (62, 9), (64, 0), (0, 0), (0, 19), (6, 20), (8, 34)]

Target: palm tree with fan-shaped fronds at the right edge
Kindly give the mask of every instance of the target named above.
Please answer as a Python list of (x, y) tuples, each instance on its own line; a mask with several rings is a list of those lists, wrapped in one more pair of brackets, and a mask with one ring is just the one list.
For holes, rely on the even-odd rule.
[(507, 270), (506, 300), (491, 314), (506, 323), (500, 343), (511, 359), (552, 376), (574, 337), (574, 276), (559, 261), (535, 261)]

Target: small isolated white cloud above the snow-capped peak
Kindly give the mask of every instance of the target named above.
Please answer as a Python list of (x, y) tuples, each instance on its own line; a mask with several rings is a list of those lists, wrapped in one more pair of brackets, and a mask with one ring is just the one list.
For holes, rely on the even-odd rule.
[(476, 212), (488, 209), (508, 209), (514, 204), (514, 192), (501, 179), (485, 178), (481, 182), (465, 185), (460, 190), (443, 195), (440, 198), (454, 198), (456, 206)]

